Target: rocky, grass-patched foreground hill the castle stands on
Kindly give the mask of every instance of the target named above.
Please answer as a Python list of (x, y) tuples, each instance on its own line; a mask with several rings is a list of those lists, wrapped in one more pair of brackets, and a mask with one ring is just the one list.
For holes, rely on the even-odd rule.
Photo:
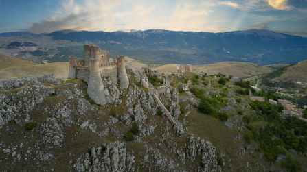
[[(145, 75), (149, 89), (140, 84)], [(202, 78), (202, 94), (225, 102), (218, 112), (228, 117), (218, 120), (198, 112), (195, 76), (172, 76), (160, 102), (154, 93), (163, 87), (161, 75), (129, 71), (129, 77), (127, 90), (103, 78), (113, 102), (107, 106), (93, 103), (77, 79), (1, 81), (1, 171), (280, 171), (245, 143), (242, 110), (253, 110), (230, 82)]]

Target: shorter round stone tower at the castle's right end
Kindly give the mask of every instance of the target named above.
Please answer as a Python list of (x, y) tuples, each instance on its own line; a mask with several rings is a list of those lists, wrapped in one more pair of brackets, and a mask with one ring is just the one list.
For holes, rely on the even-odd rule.
[(120, 84), (120, 88), (126, 89), (129, 86), (129, 79), (126, 71), (126, 60), (124, 56), (117, 58), (117, 79)]

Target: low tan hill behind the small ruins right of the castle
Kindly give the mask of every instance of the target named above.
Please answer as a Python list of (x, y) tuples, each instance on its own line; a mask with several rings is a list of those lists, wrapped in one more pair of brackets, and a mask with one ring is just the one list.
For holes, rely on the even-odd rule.
[[(176, 72), (177, 64), (166, 64), (157, 66), (154, 69), (161, 73)], [(270, 73), (275, 69), (270, 66), (258, 66), (257, 64), (247, 62), (218, 62), (204, 66), (192, 66), (194, 72), (203, 72), (208, 75), (222, 73), (224, 75), (232, 75), (236, 77), (250, 77), (253, 75), (263, 75)]]

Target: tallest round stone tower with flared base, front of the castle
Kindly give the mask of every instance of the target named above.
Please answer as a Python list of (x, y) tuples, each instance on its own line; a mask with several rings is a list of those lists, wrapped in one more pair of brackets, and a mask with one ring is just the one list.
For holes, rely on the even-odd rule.
[[(89, 50), (89, 82), (87, 86), (87, 94), (95, 103), (100, 105), (106, 104), (106, 95), (104, 93), (104, 84), (100, 75), (100, 49), (96, 46), (85, 47)], [(86, 60), (85, 60), (86, 64)]]

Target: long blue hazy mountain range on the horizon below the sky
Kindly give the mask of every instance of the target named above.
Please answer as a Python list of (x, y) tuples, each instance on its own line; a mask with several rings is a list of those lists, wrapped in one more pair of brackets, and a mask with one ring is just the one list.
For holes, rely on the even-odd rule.
[(54, 40), (93, 42), (111, 54), (153, 63), (207, 64), (223, 61), (257, 64), (295, 63), (306, 59), (307, 38), (247, 30), (225, 33), (146, 30), (137, 32), (58, 31)]

